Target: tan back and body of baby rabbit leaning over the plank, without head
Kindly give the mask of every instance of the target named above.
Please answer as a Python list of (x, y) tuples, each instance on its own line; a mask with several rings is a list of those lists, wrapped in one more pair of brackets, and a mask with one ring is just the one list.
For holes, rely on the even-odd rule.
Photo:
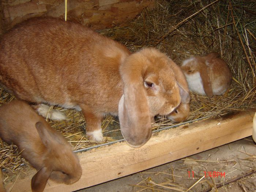
[(8, 144), (15, 144), (22, 151), (23, 157), (33, 159), (31, 165), (41, 165), (40, 155), (45, 146), (35, 129), (35, 123), (44, 122), (28, 104), (18, 100), (5, 103), (0, 107), (0, 137)]

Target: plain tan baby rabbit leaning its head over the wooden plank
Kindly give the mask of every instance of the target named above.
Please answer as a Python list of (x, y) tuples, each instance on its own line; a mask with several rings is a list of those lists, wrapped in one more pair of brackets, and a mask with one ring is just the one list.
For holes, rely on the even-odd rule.
[(0, 137), (15, 144), (38, 170), (32, 191), (43, 191), (48, 178), (72, 184), (82, 174), (79, 159), (61, 133), (55, 131), (27, 103), (14, 100), (0, 107)]

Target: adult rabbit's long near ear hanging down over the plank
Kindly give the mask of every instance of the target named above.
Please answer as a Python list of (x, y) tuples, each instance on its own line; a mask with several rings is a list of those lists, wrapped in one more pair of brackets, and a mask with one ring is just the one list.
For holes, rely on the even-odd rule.
[[(133, 58), (138, 56), (138, 58)], [(131, 147), (140, 147), (151, 136), (151, 117), (144, 87), (145, 64), (138, 53), (120, 66), (124, 94), (119, 101), (118, 117), (121, 133)]]

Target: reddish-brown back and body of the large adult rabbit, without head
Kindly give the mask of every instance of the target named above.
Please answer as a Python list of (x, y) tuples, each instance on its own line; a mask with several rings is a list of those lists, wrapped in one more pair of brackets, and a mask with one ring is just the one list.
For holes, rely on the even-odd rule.
[(0, 82), (20, 99), (75, 108), (99, 98), (111, 102), (108, 89), (121, 97), (118, 67), (128, 50), (79, 23), (30, 19), (0, 44)]

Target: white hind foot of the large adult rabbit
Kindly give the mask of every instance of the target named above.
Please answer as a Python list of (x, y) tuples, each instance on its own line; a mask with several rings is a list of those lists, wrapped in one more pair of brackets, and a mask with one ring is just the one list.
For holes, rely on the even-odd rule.
[(55, 109), (50, 111), (49, 109), (50, 106), (41, 103), (38, 105), (37, 112), (45, 118), (49, 117), (51, 120), (62, 121), (67, 119), (64, 113)]

